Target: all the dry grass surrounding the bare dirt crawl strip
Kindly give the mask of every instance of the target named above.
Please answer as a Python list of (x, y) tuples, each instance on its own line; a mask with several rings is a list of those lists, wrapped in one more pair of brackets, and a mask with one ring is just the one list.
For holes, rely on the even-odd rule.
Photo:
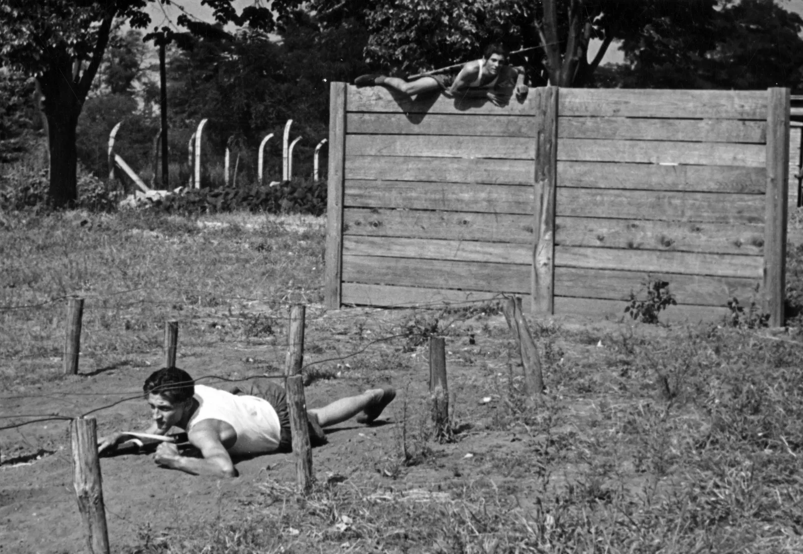
[[(84, 348), (109, 363), (160, 348), (165, 319), (185, 322), (182, 344), (245, 341), (283, 326), (279, 303), (320, 301), (320, 220), (5, 217), (0, 303), (20, 308), (0, 312), (6, 388), (26, 360), (59, 356), (64, 295), (87, 297)], [(328, 338), (309, 359), (354, 355), (308, 379), (410, 383), (392, 438), (348, 475), (317, 475), (308, 497), (269, 481), (236, 521), (143, 528), (128, 552), (801, 552), (798, 336), (532, 328), (548, 386), (535, 406), (492, 306), (319, 318)], [(436, 440), (412, 373), (433, 332), (447, 337), (451, 442)]]

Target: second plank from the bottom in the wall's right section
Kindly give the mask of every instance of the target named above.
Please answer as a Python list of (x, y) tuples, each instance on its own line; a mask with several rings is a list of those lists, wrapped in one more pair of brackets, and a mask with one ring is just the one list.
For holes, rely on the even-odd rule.
[[(647, 274), (642, 271), (556, 267), (555, 294), (625, 301), (630, 298), (630, 291), (633, 291), (638, 299), (643, 300), (646, 299), (646, 279)], [(650, 279), (669, 283), (669, 291), (678, 303), (703, 306), (723, 306), (734, 296), (742, 304), (749, 303), (749, 299), (756, 297), (756, 287), (760, 283), (760, 279), (744, 277), (676, 273), (650, 273)]]

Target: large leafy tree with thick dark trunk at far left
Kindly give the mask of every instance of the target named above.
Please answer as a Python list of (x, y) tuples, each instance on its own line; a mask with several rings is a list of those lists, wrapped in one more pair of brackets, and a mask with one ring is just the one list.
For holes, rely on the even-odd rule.
[[(75, 128), (108, 46), (115, 18), (148, 25), (145, 7), (168, 0), (38, 0), (0, 4), (0, 64), (39, 82), (50, 148), (49, 195), (55, 207), (76, 197)], [(259, 2), (240, 14), (230, 0), (204, 0), (222, 23), (263, 25), (272, 16)], [(187, 22), (185, 16), (179, 22)], [(202, 27), (188, 22), (190, 27)], [(190, 28), (190, 31), (192, 29)]]

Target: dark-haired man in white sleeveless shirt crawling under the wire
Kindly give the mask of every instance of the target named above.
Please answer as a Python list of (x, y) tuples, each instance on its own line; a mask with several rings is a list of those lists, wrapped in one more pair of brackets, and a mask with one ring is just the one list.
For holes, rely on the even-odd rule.
[[(265, 380), (267, 381), (267, 380)], [(178, 368), (153, 372), (142, 388), (151, 408), (153, 424), (148, 434), (166, 436), (173, 427), (187, 432), (190, 443), (203, 458), (182, 456), (173, 442), (161, 442), (157, 464), (193, 475), (236, 477), (234, 455), (291, 451), (290, 413), (283, 387), (267, 381), (255, 392), (259, 396), (227, 392), (195, 385), (189, 373)], [(254, 392), (254, 391), (252, 391)], [(357, 422), (371, 423), (379, 417), (396, 391), (390, 387), (369, 389), (354, 397), (340, 398), (323, 408), (308, 410), (313, 446), (325, 442), (322, 427), (344, 422), (360, 414)], [(100, 454), (116, 449), (131, 435), (113, 433), (98, 441)]]

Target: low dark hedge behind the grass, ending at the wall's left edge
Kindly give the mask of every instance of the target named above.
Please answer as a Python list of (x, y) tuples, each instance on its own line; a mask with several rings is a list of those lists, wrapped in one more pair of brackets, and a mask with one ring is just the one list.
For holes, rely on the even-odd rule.
[(283, 181), (279, 185), (247, 185), (215, 189), (187, 189), (155, 200), (154, 210), (170, 214), (206, 214), (228, 211), (265, 211), (271, 214), (326, 212), (326, 183), (311, 179)]

